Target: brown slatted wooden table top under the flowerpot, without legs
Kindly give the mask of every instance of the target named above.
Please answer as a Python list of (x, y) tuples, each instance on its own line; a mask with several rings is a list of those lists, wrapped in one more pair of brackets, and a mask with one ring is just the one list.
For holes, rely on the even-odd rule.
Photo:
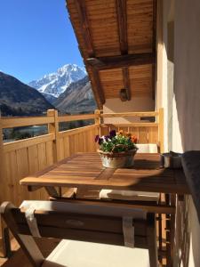
[(138, 153), (134, 166), (117, 169), (103, 167), (98, 153), (77, 153), (20, 180), (20, 184), (29, 187), (87, 186), (96, 190), (190, 193), (182, 169), (160, 168), (160, 155), (154, 153)]

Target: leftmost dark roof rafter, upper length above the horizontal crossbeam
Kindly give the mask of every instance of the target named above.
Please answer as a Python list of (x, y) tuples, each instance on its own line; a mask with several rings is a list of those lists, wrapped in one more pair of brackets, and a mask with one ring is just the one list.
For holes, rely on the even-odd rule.
[(93, 44), (92, 44), (92, 36), (90, 32), (89, 22), (87, 19), (85, 0), (74, 0), (74, 1), (76, 4), (78, 18), (80, 20), (80, 28), (81, 28), (82, 36), (84, 38), (84, 45), (86, 47), (88, 56), (93, 57), (95, 53), (94, 53)]

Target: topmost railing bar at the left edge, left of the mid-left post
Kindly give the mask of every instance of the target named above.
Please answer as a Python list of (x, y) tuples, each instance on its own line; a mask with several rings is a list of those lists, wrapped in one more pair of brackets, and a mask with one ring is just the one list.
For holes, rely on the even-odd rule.
[(2, 118), (2, 128), (12, 128), (30, 125), (46, 125), (53, 123), (53, 117), (12, 117)]

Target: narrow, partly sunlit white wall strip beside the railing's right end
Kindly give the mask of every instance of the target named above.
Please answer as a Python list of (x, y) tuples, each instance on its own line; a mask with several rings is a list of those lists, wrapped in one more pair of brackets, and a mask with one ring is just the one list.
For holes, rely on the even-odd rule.
[[(157, 83), (157, 108), (164, 108), (164, 151), (172, 150), (172, 101), (170, 99), (173, 90), (173, 36), (170, 32), (170, 27), (174, 21), (174, 0), (161, 0), (158, 2), (162, 9), (162, 16), (158, 14), (159, 24), (162, 24), (162, 37), (157, 37), (158, 60), (157, 60), (157, 75), (160, 82)], [(171, 27), (172, 31), (172, 27)], [(169, 36), (169, 33), (171, 36)], [(162, 69), (162, 74), (160, 73)], [(170, 102), (169, 102), (170, 101)]]

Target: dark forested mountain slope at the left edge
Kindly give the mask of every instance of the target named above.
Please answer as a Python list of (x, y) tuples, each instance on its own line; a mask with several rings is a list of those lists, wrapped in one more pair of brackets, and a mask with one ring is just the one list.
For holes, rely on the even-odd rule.
[(36, 116), (54, 109), (44, 96), (0, 71), (0, 110), (2, 116)]

